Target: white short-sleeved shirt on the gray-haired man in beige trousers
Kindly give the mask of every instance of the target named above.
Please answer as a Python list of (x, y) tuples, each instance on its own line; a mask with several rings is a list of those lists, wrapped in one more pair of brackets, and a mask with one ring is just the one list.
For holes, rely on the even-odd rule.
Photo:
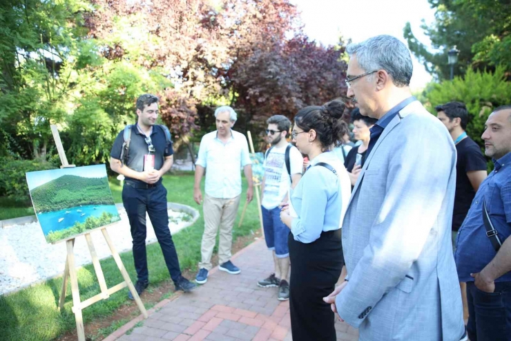
[(206, 194), (231, 199), (241, 194), (241, 169), (251, 163), (242, 133), (231, 130), (231, 138), (224, 143), (215, 130), (202, 136), (195, 165), (206, 168)]

